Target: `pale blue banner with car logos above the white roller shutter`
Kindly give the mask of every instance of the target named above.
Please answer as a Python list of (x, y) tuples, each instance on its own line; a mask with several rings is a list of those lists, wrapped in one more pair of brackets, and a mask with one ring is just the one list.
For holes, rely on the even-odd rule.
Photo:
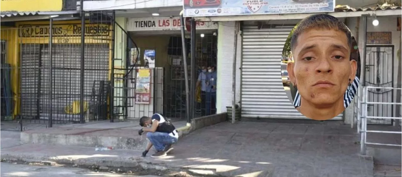
[(184, 16), (334, 12), (335, 0), (183, 0)]

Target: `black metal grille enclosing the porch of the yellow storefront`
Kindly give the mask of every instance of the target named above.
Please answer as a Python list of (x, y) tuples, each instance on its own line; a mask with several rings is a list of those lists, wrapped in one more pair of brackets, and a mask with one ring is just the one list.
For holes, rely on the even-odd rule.
[(87, 16), (84, 38), (79, 20), (0, 29), (1, 120), (25, 130), (109, 118), (115, 21), (113, 12)]

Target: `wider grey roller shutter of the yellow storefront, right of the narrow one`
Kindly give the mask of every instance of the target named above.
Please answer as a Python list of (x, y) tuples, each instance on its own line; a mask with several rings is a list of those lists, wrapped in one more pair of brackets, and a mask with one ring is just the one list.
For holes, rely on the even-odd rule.
[[(53, 119), (76, 122), (80, 115), (71, 111), (74, 102), (80, 100), (80, 44), (53, 44)], [(43, 70), (41, 92), (49, 92), (49, 45), (41, 49)], [(84, 63), (84, 102), (89, 109), (91, 98), (98, 90), (98, 83), (107, 82), (109, 72), (109, 44), (86, 44)], [(49, 102), (41, 99), (42, 117), (48, 117)], [(85, 110), (86, 111), (86, 110)], [(86, 118), (88, 119), (88, 118)]]

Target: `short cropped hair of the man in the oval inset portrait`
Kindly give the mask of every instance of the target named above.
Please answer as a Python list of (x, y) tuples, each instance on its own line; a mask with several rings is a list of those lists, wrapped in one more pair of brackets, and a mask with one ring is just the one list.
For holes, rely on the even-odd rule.
[(345, 23), (340, 21), (338, 18), (328, 14), (314, 14), (301, 20), (297, 25), (295, 31), (293, 31), (292, 39), (290, 41), (290, 49), (292, 51), (296, 47), (297, 38), (299, 37), (299, 35), (311, 29), (342, 31), (343, 33), (345, 33), (348, 39), (349, 48), (352, 48), (352, 34)]

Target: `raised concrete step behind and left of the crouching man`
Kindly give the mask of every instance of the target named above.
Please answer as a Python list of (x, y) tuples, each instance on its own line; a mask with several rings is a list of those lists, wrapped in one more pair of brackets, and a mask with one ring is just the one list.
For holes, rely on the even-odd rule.
[[(186, 125), (185, 120), (171, 120), (177, 127)], [(21, 132), (24, 144), (47, 144), (62, 146), (107, 147), (114, 149), (142, 150), (148, 144), (146, 137), (138, 136), (138, 120), (111, 123), (109, 120), (65, 124), (53, 128), (36, 128)]]

